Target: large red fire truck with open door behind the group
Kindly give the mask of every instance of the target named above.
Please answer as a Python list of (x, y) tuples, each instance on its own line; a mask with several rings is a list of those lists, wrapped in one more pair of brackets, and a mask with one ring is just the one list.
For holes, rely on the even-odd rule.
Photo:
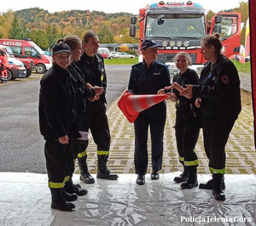
[[(239, 54), (241, 39), (241, 14), (218, 13), (212, 17), (210, 34), (218, 32), (223, 40), (224, 55), (230, 58)], [(137, 16), (131, 17), (130, 36), (136, 38)], [(158, 59), (169, 65), (171, 74), (177, 73), (174, 56), (187, 52), (192, 59), (191, 68), (199, 75), (205, 63), (201, 54), (201, 38), (207, 34), (206, 11), (200, 3), (148, 4), (139, 10), (140, 48), (145, 39), (161, 45)], [(139, 57), (142, 60), (142, 56)]]

